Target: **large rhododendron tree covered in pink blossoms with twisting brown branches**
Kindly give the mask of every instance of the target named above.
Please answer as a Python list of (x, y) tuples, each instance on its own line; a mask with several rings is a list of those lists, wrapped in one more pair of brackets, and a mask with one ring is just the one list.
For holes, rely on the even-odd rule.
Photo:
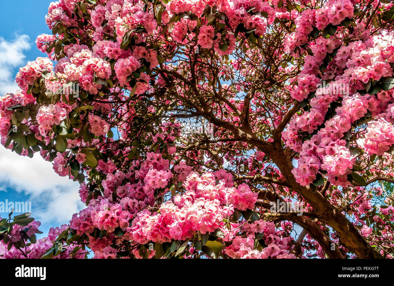
[(392, 258), (393, 15), (388, 0), (50, 4), (48, 57), (0, 99), (1, 143), (78, 180), (86, 208), (30, 243), (38, 222), (3, 219), (0, 256)]

